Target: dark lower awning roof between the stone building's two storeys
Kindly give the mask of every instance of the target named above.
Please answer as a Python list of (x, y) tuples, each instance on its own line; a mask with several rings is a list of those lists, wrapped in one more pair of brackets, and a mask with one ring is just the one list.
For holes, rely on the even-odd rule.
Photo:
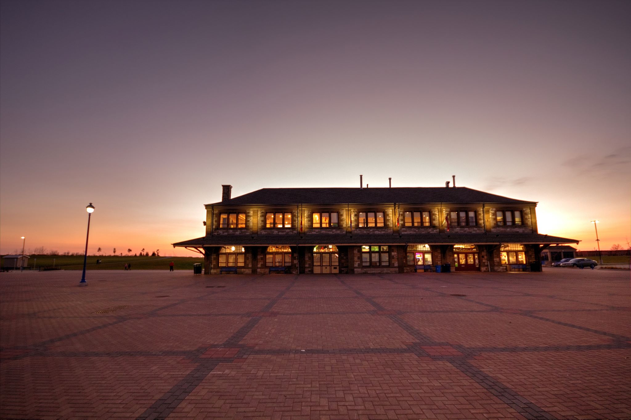
[(367, 235), (214, 235), (176, 242), (174, 247), (223, 247), (228, 245), (405, 245), (428, 243), (430, 245), (453, 245), (454, 243), (476, 243), (478, 245), (500, 243), (578, 243), (579, 240), (541, 235), (541, 233), (425, 233), (412, 235), (380, 234)]

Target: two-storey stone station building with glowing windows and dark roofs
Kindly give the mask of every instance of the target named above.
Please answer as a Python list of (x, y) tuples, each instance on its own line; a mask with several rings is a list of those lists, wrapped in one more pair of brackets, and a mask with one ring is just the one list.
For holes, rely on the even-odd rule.
[(265, 188), (206, 204), (206, 235), (174, 243), (206, 274), (540, 271), (578, 243), (537, 230), (536, 202), (465, 187)]

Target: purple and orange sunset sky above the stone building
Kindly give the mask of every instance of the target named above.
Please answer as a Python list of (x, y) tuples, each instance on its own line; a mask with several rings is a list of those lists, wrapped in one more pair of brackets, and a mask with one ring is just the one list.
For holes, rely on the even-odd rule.
[(456, 185), (631, 240), (629, 1), (5, 1), (0, 253), (194, 255), (265, 187)]

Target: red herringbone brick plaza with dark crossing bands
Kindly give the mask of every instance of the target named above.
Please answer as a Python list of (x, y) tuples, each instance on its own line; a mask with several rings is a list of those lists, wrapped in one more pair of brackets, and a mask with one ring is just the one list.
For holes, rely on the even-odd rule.
[(631, 418), (628, 271), (0, 275), (6, 419)]

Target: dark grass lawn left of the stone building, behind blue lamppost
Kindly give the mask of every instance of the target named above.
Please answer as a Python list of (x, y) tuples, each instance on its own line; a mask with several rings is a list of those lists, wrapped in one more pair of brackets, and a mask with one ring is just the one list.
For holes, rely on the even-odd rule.
[[(37, 259), (37, 262), (35, 262)], [(54, 259), (54, 262), (53, 262)], [(97, 265), (97, 259), (101, 264)], [(173, 261), (176, 270), (192, 270), (193, 264), (204, 263), (202, 257), (91, 257), (88, 256), (88, 270), (122, 270), (125, 264), (131, 263), (133, 270), (168, 270), (168, 264)], [(3, 261), (4, 262), (4, 261)], [(83, 257), (71, 255), (32, 255), (28, 259), (28, 266), (59, 267), (64, 270), (83, 270)], [(13, 267), (10, 267), (13, 268)]]

